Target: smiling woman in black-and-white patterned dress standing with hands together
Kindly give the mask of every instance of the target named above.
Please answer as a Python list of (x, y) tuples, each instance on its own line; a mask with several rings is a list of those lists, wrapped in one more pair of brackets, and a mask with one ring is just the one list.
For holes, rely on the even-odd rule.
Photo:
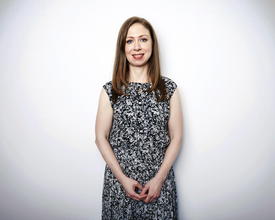
[(102, 219), (177, 219), (172, 165), (182, 144), (180, 96), (161, 75), (156, 34), (144, 18), (121, 26), (95, 127), (106, 162)]

